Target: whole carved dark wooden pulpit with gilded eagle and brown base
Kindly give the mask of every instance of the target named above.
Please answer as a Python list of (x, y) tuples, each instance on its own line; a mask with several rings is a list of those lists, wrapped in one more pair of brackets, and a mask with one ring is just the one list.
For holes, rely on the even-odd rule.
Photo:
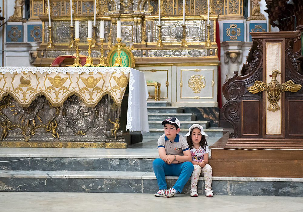
[(214, 176), (302, 177), (303, 75), (293, 51), (300, 35), (251, 35), (248, 74), (235, 71), (222, 88), (234, 130), (210, 146)]

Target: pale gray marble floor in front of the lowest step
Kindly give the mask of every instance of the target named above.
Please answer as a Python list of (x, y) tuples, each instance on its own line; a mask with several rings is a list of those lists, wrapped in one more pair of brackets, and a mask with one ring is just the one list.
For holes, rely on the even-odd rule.
[(303, 211), (302, 197), (203, 195), (190, 197), (177, 194), (172, 198), (153, 194), (117, 193), (55, 193), (0, 192), (0, 211), (3, 212), (136, 212), (136, 211), (216, 211), (216, 212), (299, 212)]

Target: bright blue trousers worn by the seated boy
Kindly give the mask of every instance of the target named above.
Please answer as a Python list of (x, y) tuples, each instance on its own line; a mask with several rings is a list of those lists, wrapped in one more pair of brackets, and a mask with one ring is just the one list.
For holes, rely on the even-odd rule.
[(193, 164), (189, 161), (168, 165), (161, 158), (156, 158), (152, 162), (152, 167), (157, 178), (159, 189), (167, 189), (165, 176), (179, 176), (173, 188), (180, 193), (194, 170)]

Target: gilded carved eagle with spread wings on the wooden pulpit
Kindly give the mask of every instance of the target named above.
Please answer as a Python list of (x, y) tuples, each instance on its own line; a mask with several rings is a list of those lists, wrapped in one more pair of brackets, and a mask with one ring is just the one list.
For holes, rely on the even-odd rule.
[(280, 97), (281, 92), (284, 91), (297, 92), (302, 87), (302, 85), (295, 84), (292, 80), (288, 80), (285, 83), (280, 84), (276, 79), (278, 74), (281, 74), (281, 72), (275, 69), (272, 71), (271, 81), (268, 84), (257, 80), (252, 86), (247, 87), (247, 90), (253, 94), (266, 90), (268, 94), (267, 98), (268, 101), (270, 102), (267, 109), (273, 112), (280, 109), (278, 105), (278, 101), (281, 98)]

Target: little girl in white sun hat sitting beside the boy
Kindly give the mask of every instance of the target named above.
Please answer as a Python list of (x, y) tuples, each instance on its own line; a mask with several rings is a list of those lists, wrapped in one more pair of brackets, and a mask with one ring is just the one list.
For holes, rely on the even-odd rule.
[(207, 142), (208, 135), (203, 131), (200, 124), (193, 124), (188, 129), (187, 143), (191, 151), (191, 163), (194, 165), (194, 171), (191, 175), (191, 197), (198, 197), (197, 184), (201, 171), (204, 174), (205, 180), (205, 195), (206, 197), (213, 197), (211, 190), (212, 168), (208, 164), (208, 152), (210, 152)]

